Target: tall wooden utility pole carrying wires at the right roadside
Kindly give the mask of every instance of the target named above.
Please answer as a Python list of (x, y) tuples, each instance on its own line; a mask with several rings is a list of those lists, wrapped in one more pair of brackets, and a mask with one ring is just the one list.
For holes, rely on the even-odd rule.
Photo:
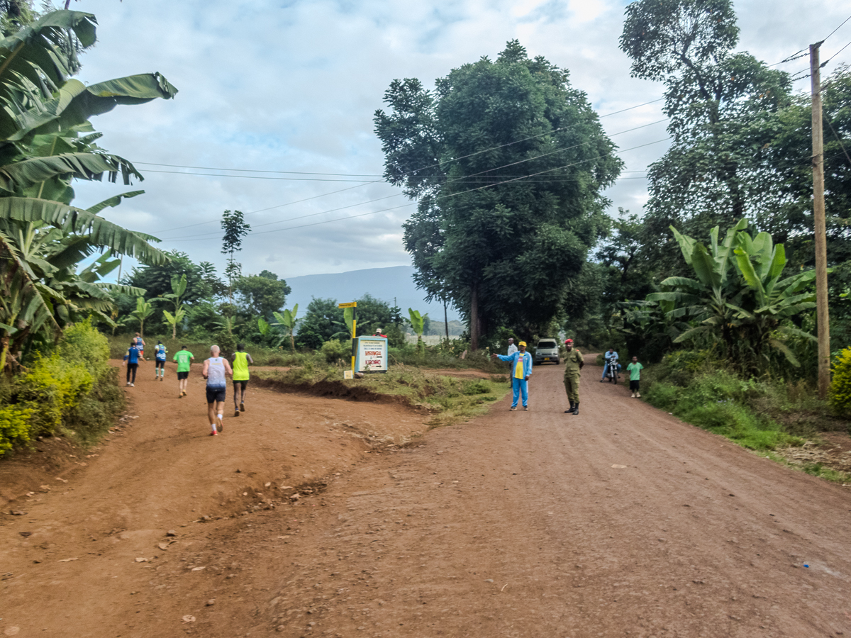
[(831, 322), (827, 309), (827, 236), (825, 231), (825, 148), (821, 123), (821, 43), (809, 45), (813, 94), (813, 221), (815, 231), (815, 313), (819, 333), (819, 396), (831, 385)]

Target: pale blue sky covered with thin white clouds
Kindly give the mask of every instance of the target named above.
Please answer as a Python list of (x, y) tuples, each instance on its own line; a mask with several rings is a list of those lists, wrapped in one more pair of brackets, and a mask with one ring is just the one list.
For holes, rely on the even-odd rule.
[[(643, 170), (665, 151), (666, 134), (665, 122), (653, 123), (663, 119), (660, 102), (632, 108), (660, 98), (662, 87), (629, 77), (629, 60), (618, 48), (625, 4), (76, 1), (71, 8), (94, 13), (100, 25), (98, 45), (83, 58), (83, 81), (160, 71), (180, 89), (175, 100), (95, 118), (105, 134), (101, 145), (146, 176), (146, 195), (104, 214), (220, 270), (226, 208), (242, 210), (254, 228), (241, 254), (243, 272), (268, 269), (286, 278), (408, 265), (401, 227), (413, 206), (380, 181), (374, 111), (394, 78), (418, 77), (431, 86), (465, 62), (495, 57), (512, 38), (530, 55), (567, 68), (588, 94), (626, 162), (607, 192), (612, 211), (640, 212)], [(735, 6), (740, 48), (768, 64), (824, 38), (851, 14), (847, 4), (824, 0)], [(823, 59), (849, 40), (851, 21), (825, 43)], [(826, 71), (842, 61), (851, 61), (851, 47)], [(802, 59), (781, 68), (807, 66)], [(808, 80), (797, 88), (808, 89)], [(624, 109), (630, 110), (605, 117)], [(643, 128), (620, 134), (637, 127)], [(131, 190), (75, 187), (83, 208)]]

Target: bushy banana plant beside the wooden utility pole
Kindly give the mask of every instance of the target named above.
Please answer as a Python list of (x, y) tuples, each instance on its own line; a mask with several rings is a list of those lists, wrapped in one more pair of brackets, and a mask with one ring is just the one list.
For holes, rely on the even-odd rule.
[(781, 279), (786, 265), (782, 244), (773, 244), (766, 232), (751, 237), (747, 221), (741, 219), (718, 243), (718, 227), (705, 246), (692, 237), (671, 231), (696, 278), (668, 277), (666, 288), (651, 293), (648, 302), (669, 303), (666, 317), (692, 322), (675, 343), (705, 335), (724, 346), (725, 354), (743, 370), (759, 373), (779, 352), (793, 366), (800, 365), (785, 340), (814, 339), (784, 320), (814, 308), (814, 293), (808, 291), (814, 271)]

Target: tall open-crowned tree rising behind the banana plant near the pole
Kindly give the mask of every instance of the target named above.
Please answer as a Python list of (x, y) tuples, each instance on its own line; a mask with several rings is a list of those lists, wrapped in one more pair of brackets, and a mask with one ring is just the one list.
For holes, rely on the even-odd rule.
[(682, 267), (670, 225), (705, 236), (747, 216), (776, 232), (785, 209), (774, 196), (783, 176), (771, 143), (790, 103), (788, 74), (734, 50), (731, 0), (638, 0), (625, 13), (620, 48), (631, 74), (664, 83), (671, 118), (671, 146), (648, 172), (646, 256)]

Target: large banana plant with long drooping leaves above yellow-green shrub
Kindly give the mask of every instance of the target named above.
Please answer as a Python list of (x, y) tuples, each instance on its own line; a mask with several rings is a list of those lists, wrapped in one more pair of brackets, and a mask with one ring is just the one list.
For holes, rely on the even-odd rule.
[[(111, 294), (142, 291), (97, 281), (120, 263), (112, 255), (131, 255), (142, 263), (168, 260), (151, 246), (154, 239), (101, 218), (131, 191), (89, 210), (71, 206), (72, 179), (122, 176), (142, 179), (123, 157), (95, 144), (89, 117), (116, 105), (170, 99), (176, 89), (158, 73), (85, 85), (71, 76), (79, 71), (78, 51), (94, 45), (94, 15), (54, 11), (0, 40), (0, 363), (8, 364), (36, 335), (47, 339), (77, 315), (100, 313), (111, 321)], [(82, 272), (77, 265), (92, 253), (104, 253)], [(106, 257), (106, 253), (109, 256)], [(45, 313), (49, 313), (48, 316)], [(144, 320), (142, 320), (144, 321)]]

